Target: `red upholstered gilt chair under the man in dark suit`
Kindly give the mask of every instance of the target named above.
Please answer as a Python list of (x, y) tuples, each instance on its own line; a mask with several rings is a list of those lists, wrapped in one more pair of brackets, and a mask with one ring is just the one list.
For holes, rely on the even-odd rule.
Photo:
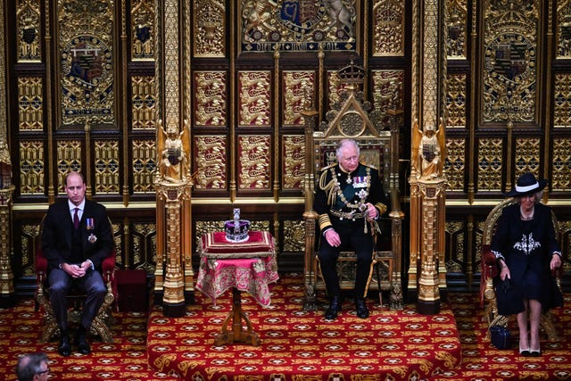
[[(40, 224), (40, 236), (41, 228), (44, 226), (44, 219)], [(41, 343), (47, 343), (50, 341), (54, 335), (59, 335), (59, 328), (57, 327), (57, 322), (55, 321), (54, 311), (50, 304), (49, 297), (49, 286), (47, 284), (47, 260), (42, 252), (42, 247), (40, 239), (37, 240), (36, 244), (36, 280), (37, 280), (37, 290), (36, 290), (36, 303), (37, 306), (41, 306), (44, 310), (44, 329), (42, 332), (42, 337), (40, 338)], [(115, 285), (115, 254), (116, 251), (113, 249), (109, 256), (105, 258), (101, 264), (103, 269), (103, 280), (107, 285), (107, 294), (103, 299), (103, 304), (93, 323), (91, 325), (91, 334), (98, 335), (101, 337), (103, 343), (112, 343), (111, 330), (109, 325), (112, 322), (112, 304), (116, 300), (117, 287)], [(85, 301), (86, 294), (79, 291), (79, 289), (70, 290), (70, 294), (67, 296), (70, 311), (68, 312), (68, 319), (72, 323), (79, 322), (80, 307)]]

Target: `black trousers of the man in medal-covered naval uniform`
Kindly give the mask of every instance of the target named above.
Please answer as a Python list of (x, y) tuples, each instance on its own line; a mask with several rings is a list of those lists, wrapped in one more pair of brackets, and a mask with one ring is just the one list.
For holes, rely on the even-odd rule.
[[(332, 217), (332, 219), (335, 219), (335, 217)], [(334, 221), (333, 227), (341, 238), (341, 246), (331, 246), (327, 243), (325, 236), (321, 235), (318, 254), (321, 273), (327, 286), (327, 294), (329, 297), (341, 295), (339, 275), (336, 269), (337, 259), (339, 258), (339, 252), (353, 250), (357, 255), (357, 271), (353, 293), (355, 298), (362, 298), (365, 294), (368, 273), (373, 258), (373, 237), (371, 236), (370, 227), (368, 227), (367, 233), (364, 233), (363, 219)]]

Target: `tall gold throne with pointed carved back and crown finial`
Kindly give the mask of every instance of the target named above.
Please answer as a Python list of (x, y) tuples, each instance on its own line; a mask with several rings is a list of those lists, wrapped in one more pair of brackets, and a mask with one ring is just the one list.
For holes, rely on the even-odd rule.
[[(306, 173), (304, 178), (303, 213), (305, 223), (304, 277), (305, 295), (303, 309), (318, 309), (317, 292), (326, 290), (319, 267), (319, 232), (316, 232), (318, 215), (313, 211), (313, 193), (317, 174), (335, 162), (335, 150), (342, 139), (351, 138), (360, 146), (360, 161), (379, 171), (379, 177), (385, 186), (385, 194), (390, 199), (390, 228), (383, 231), (390, 235), (388, 248), (376, 250), (368, 276), (366, 294), (370, 289), (389, 291), (390, 307), (402, 308), (401, 289), (401, 225), (404, 214), (399, 202), (399, 124), (401, 111), (389, 110), (387, 118), (381, 120), (377, 112), (368, 112), (370, 104), (363, 101), (359, 90), (360, 76), (356, 73), (362, 68), (353, 64), (338, 71), (339, 78), (346, 83), (341, 102), (327, 112), (327, 121), (315, 130), (317, 112), (306, 109), (305, 118), (305, 157)], [(310, 102), (308, 102), (310, 104)], [(388, 121), (387, 121), (388, 120)], [(377, 237), (378, 238), (378, 237)], [(316, 244), (317, 243), (317, 244)], [(342, 251), (337, 261), (337, 272), (342, 289), (352, 289), (354, 284), (355, 254)], [(377, 271), (378, 270), (378, 271)], [(377, 275), (375, 277), (374, 275)], [(382, 299), (379, 301), (383, 303)]]

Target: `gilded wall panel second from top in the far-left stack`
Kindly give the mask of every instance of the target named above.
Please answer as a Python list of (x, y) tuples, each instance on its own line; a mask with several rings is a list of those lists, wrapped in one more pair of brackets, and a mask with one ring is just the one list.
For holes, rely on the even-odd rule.
[(21, 131), (44, 129), (44, 81), (39, 77), (18, 78), (18, 128)]

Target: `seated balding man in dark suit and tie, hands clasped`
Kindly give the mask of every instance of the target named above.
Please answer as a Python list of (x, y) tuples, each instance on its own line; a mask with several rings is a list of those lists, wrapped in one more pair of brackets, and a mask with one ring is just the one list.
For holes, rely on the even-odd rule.
[(111, 253), (113, 238), (105, 207), (85, 198), (86, 183), (79, 172), (70, 172), (66, 176), (65, 192), (68, 199), (50, 205), (47, 211), (42, 230), (42, 250), (48, 262), (50, 302), (60, 328), (58, 351), (62, 356), (69, 356), (66, 295), (72, 285), (87, 294), (75, 336), (79, 352), (87, 354), (91, 352), (87, 334), (107, 292), (101, 275), (101, 262)]

